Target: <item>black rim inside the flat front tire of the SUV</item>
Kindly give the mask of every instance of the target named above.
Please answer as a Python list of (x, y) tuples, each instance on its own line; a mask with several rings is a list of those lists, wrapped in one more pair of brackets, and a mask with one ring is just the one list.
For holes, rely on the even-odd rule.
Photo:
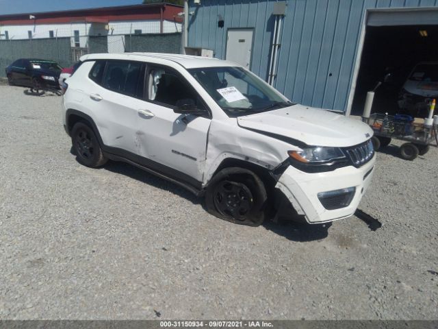
[(214, 188), (214, 205), (225, 217), (244, 221), (253, 208), (253, 195), (245, 184), (224, 180)]

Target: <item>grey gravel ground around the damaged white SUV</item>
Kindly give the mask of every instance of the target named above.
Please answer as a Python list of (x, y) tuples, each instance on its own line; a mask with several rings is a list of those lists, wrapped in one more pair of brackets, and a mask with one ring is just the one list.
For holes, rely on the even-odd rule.
[(438, 319), (437, 149), (378, 154), (375, 232), (249, 228), (129, 164), (81, 166), (60, 97), (0, 95), (0, 319)]

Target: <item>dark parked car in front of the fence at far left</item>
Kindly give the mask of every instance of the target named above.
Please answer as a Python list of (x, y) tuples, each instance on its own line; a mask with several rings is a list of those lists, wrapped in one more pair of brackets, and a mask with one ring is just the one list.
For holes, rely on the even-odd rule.
[(62, 67), (51, 60), (20, 59), (6, 67), (10, 85), (31, 88), (60, 88), (58, 79)]

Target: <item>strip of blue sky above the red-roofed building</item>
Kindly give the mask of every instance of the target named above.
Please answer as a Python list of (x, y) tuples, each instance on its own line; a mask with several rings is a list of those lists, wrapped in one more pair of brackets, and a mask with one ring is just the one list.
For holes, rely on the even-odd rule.
[(0, 0), (0, 15), (136, 5), (142, 0)]

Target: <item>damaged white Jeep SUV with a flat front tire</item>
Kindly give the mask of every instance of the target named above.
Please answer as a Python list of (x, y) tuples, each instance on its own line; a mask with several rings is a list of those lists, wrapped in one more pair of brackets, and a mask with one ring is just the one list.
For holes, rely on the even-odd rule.
[(233, 62), (90, 54), (66, 83), (64, 127), (81, 164), (129, 162), (233, 223), (346, 218), (372, 179), (368, 125), (294, 104)]

